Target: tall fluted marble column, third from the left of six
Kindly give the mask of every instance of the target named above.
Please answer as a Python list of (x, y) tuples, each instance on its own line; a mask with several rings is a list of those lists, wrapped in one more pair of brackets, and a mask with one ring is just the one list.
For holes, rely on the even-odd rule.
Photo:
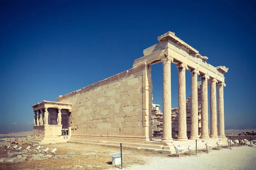
[(199, 139), (198, 135), (198, 75), (199, 71), (191, 70), (191, 128), (190, 138), (192, 140)]

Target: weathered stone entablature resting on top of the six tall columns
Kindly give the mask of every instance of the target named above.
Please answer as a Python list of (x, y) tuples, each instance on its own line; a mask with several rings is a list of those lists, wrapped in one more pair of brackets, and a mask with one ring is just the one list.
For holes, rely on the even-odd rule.
[(209, 77), (217, 79), (219, 82), (224, 82), (224, 73), (227, 73), (228, 68), (225, 66), (214, 67), (206, 62), (208, 57), (201, 56), (199, 51), (186, 44), (173, 32), (167, 32), (157, 38), (160, 42), (146, 48), (143, 51), (144, 56), (134, 61), (133, 67), (137, 67), (143, 63), (156, 64), (161, 62), (161, 58), (170, 55), (174, 58), (173, 63), (182, 62), (187, 65), (189, 70), (197, 69), (201, 74), (207, 74)]

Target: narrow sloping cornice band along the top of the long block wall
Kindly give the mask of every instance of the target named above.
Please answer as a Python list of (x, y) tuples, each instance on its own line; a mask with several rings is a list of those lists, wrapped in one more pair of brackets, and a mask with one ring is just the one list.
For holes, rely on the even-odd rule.
[(84, 91), (89, 91), (89, 90), (91, 90), (93, 88), (96, 88), (96, 87), (98, 87), (100, 85), (104, 85), (104, 84), (106, 84), (108, 82), (113, 82), (113, 81), (115, 81), (115, 80), (117, 80), (119, 78), (122, 78), (122, 77), (125, 77), (125, 76), (129, 76), (131, 74), (134, 74), (134, 73), (136, 73), (138, 71), (142, 71), (144, 69), (147, 69), (147, 64), (146, 63), (142, 63), (141, 65), (139, 65), (139, 66), (137, 66), (135, 68), (131, 68), (129, 70), (123, 71), (122, 73), (116, 74), (116, 75), (114, 75), (112, 77), (109, 77), (107, 79), (103, 79), (103, 80), (101, 80), (99, 82), (93, 83), (92, 85), (88, 85), (88, 86), (86, 86), (84, 88), (81, 88), (81, 89), (79, 89), (77, 91), (73, 91), (73, 92), (71, 92), (69, 94), (65, 94), (64, 96), (59, 96), (57, 98), (57, 101), (59, 101), (61, 99), (65, 99), (65, 98), (70, 97), (70, 96), (73, 96), (75, 94), (79, 94), (79, 93), (84, 92)]

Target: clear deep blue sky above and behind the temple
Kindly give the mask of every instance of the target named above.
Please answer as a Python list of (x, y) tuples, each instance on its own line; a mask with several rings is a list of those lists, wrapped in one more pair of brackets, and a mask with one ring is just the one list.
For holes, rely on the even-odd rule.
[[(0, 131), (32, 129), (31, 105), (56, 101), (132, 68), (157, 37), (175, 32), (213, 66), (225, 65), (226, 128), (256, 128), (253, 1), (0, 0)], [(152, 65), (162, 105), (162, 64)], [(186, 71), (186, 96), (191, 75)], [(172, 107), (177, 107), (172, 64)]]

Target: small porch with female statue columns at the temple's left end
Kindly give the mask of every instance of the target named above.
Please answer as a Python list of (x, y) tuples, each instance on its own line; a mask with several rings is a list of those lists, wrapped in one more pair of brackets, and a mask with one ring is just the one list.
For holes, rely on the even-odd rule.
[(71, 135), (71, 105), (43, 101), (32, 105), (34, 110), (34, 136), (61, 136), (61, 130)]

